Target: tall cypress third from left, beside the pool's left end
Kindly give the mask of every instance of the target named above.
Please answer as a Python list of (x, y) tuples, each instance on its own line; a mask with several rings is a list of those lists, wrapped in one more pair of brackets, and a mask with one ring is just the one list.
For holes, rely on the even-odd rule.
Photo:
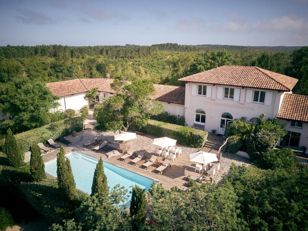
[(72, 199), (76, 193), (76, 185), (71, 164), (68, 158), (65, 159), (65, 149), (63, 146), (57, 153), (57, 177), (59, 191), (64, 197)]

